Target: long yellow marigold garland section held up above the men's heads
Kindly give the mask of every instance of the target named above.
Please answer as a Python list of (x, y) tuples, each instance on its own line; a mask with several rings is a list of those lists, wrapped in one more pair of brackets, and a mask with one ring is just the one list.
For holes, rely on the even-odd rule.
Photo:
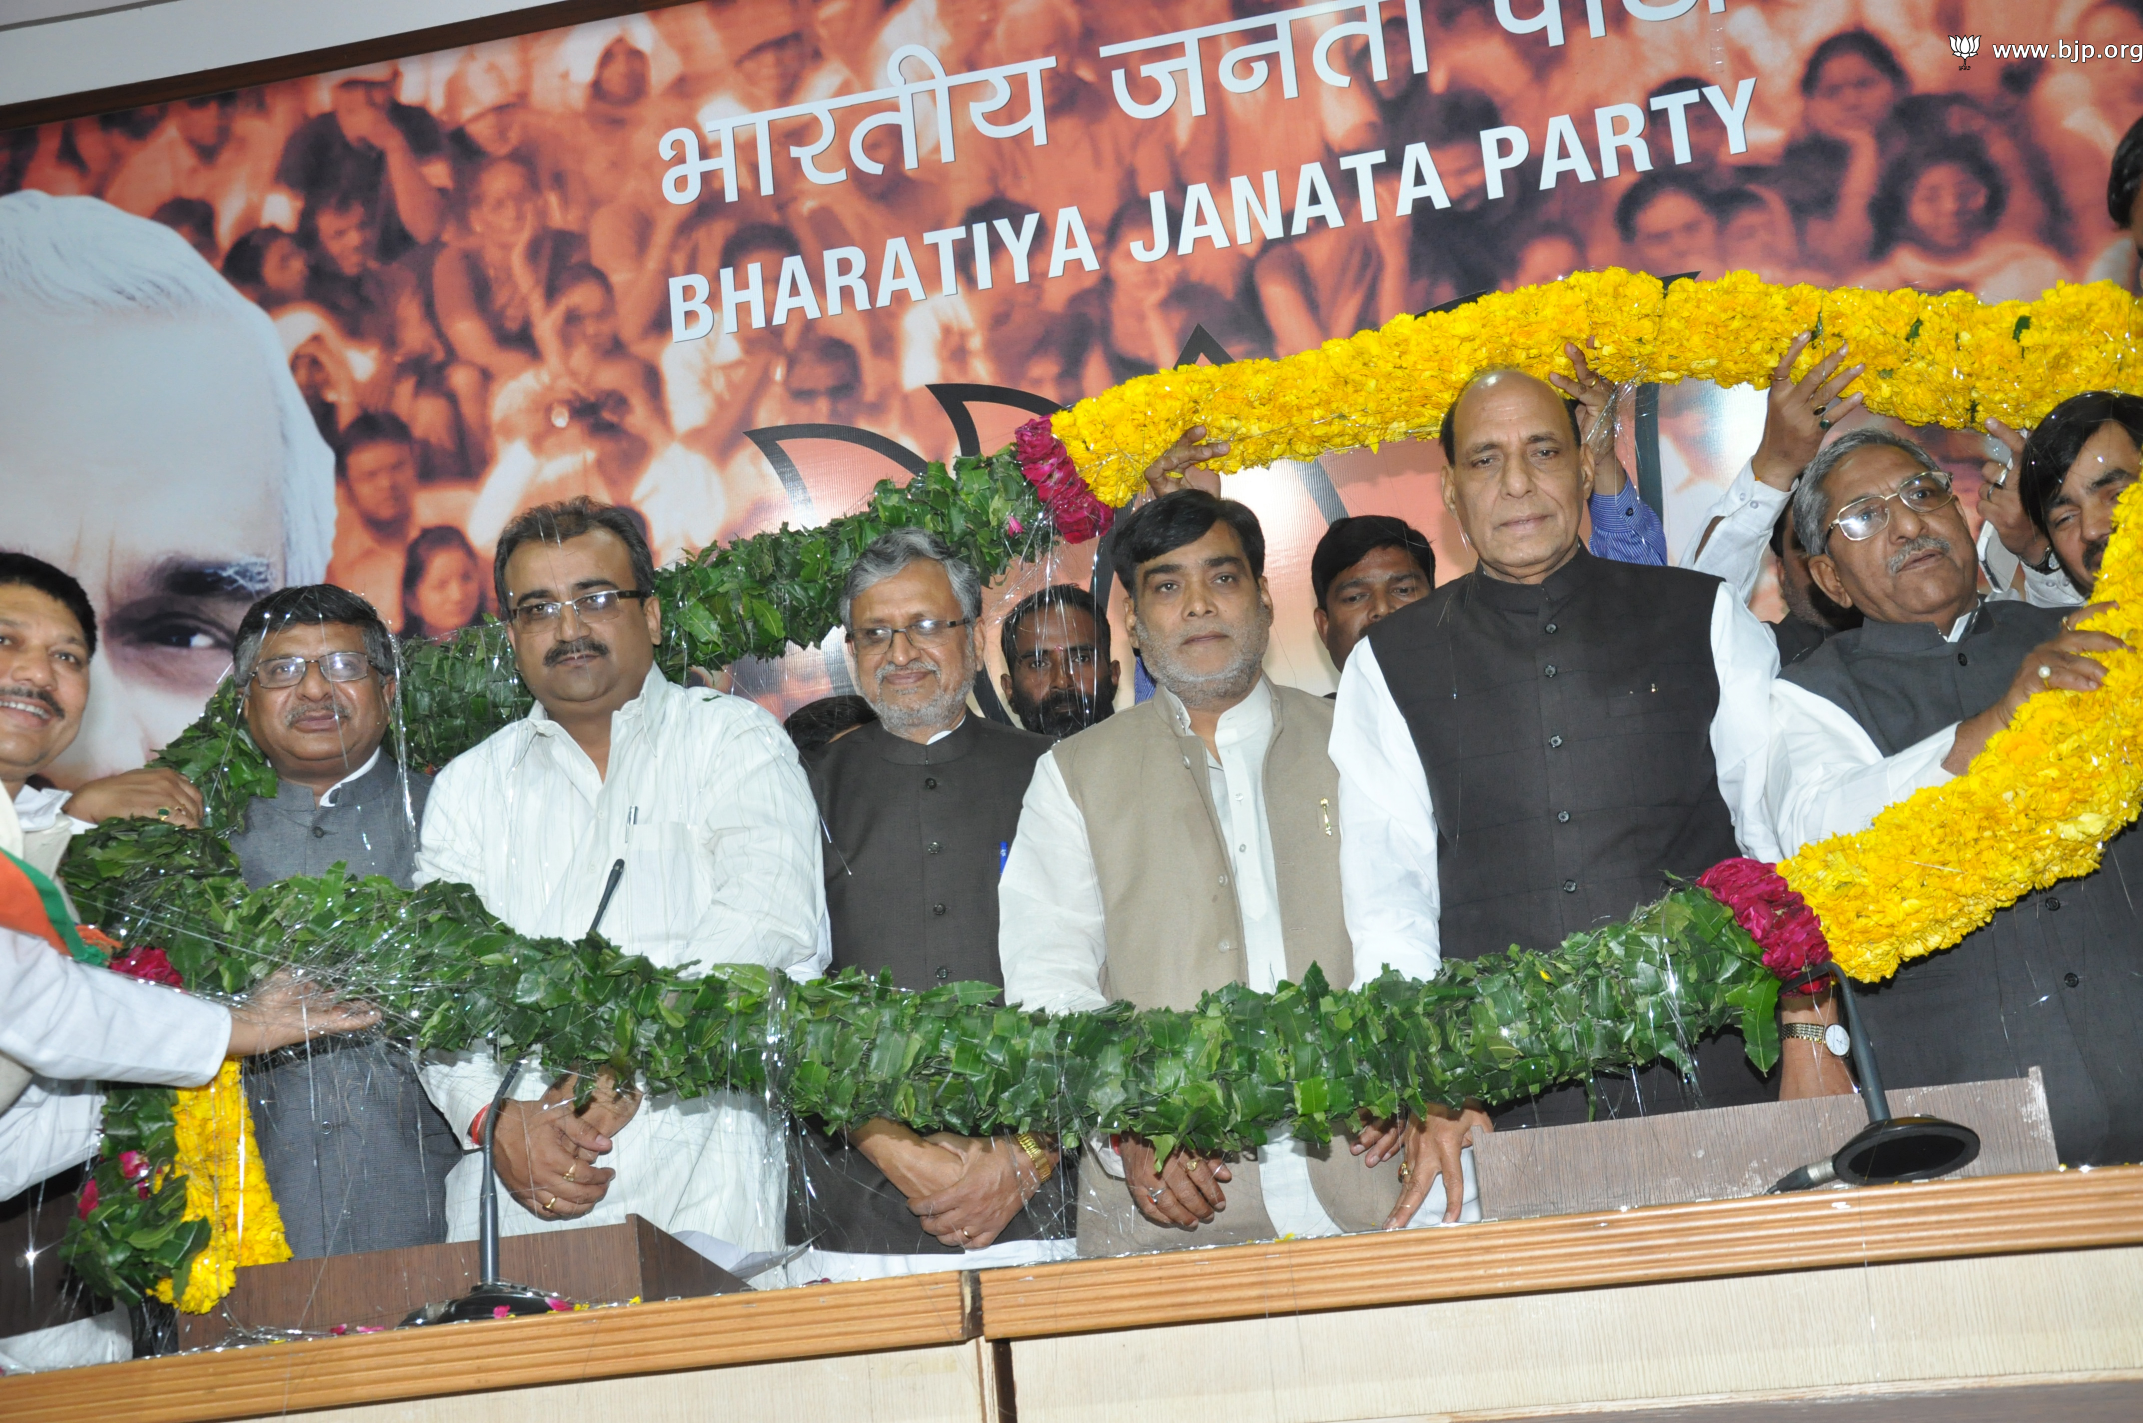
[(1140, 375), (1050, 424), (1095, 497), (1123, 508), (1147, 465), (1194, 424), (1232, 444), (1217, 469), (1429, 437), (1474, 371), (1569, 375), (1562, 343), (1588, 336), (1594, 369), (1612, 379), (1762, 388), (1794, 336), (1815, 330), (1796, 377), (1852, 343), (1869, 366), (1869, 409), (1963, 429), (1987, 416), (2032, 424), (2077, 390), (2143, 390), (2134, 326), (2134, 300), (2111, 283), (1982, 304), (1969, 291), (1774, 287), (1753, 272), (1661, 289), (1657, 276), (1609, 268), (1399, 315), (1284, 360)]

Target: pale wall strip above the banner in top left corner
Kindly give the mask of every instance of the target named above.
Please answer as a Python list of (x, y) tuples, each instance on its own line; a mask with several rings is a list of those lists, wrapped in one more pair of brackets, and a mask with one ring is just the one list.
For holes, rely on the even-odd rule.
[(0, 105), (272, 60), (538, 0), (0, 0)]

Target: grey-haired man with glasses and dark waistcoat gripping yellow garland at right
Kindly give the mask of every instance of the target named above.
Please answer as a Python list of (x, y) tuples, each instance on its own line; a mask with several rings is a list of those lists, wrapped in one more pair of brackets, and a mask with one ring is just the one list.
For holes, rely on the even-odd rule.
[[(1768, 799), (1787, 855), (1963, 774), (2034, 692), (2096, 692), (2104, 666), (2087, 654), (2122, 647), (2074, 630), (2092, 609), (1982, 600), (1950, 476), (1901, 435), (1862, 429), (1824, 450), (1794, 493), (1794, 525), (1817, 585), (1867, 621), (1772, 688)], [(2143, 1157), (2139, 887), (2143, 838), (2124, 829), (2096, 872), (2034, 892), (1954, 949), (1856, 990), (1888, 1084), (2038, 1067), (2064, 1162)], [(1824, 1018), (1837, 1018), (1832, 1005)], [(1785, 1095), (1852, 1089), (1822, 1024), (1787, 1031), (1813, 1042), (1785, 1044)]]

